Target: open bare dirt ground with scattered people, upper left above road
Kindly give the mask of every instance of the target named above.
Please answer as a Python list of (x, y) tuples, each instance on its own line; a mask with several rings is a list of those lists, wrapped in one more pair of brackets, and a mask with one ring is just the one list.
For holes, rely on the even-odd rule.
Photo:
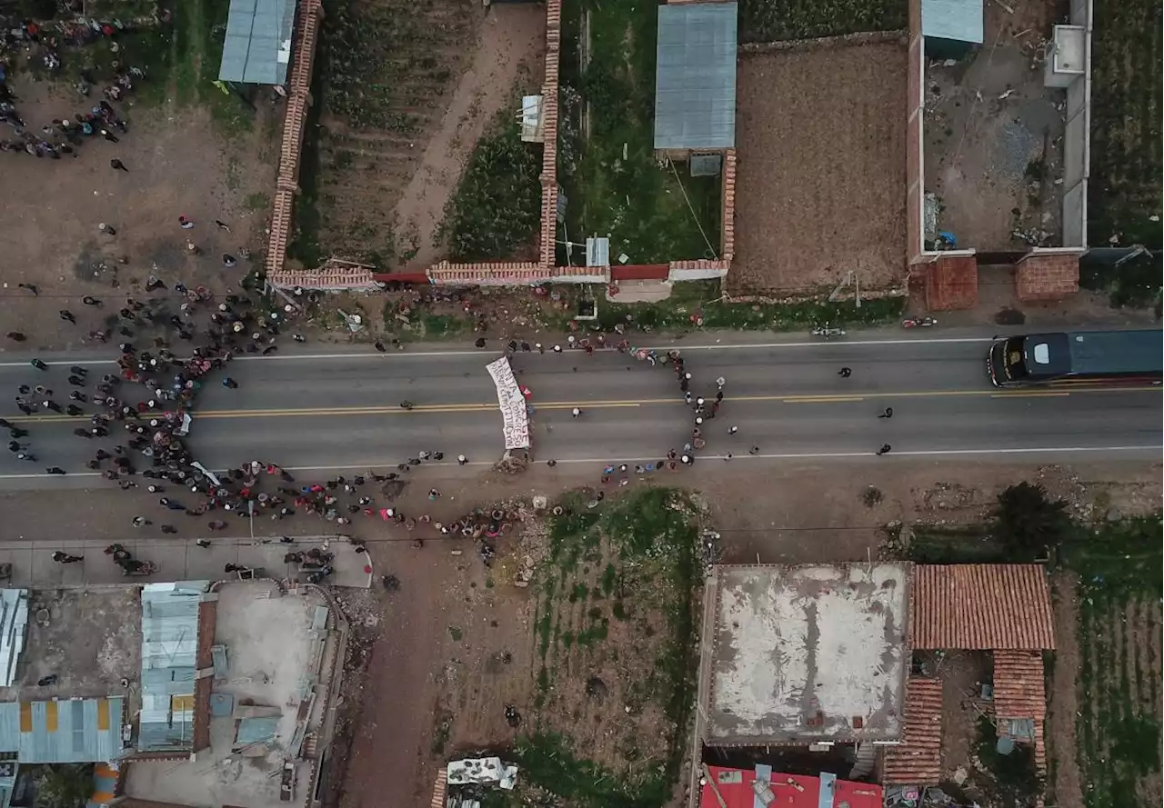
[[(26, 74), (17, 74), (13, 85), (30, 129), (83, 108), (72, 91)], [(139, 284), (151, 273), (168, 285), (201, 284), (221, 294), (250, 269), (242, 259), (223, 269), (223, 252), (237, 256), (247, 248), (256, 258), (262, 255), (267, 200), (275, 185), (271, 144), (282, 106), (260, 105), (253, 131), (229, 143), (201, 109), (135, 108), (133, 96), (114, 106), (129, 122), (129, 133), (119, 135), (116, 144), (94, 136), (77, 148), (76, 157), (59, 160), (3, 155), (0, 333), (22, 331), (28, 342), (5, 341), (0, 351), (79, 345), (127, 296), (143, 295)], [(113, 157), (128, 173), (109, 166)], [(180, 229), (179, 215), (192, 219), (196, 228)], [(230, 233), (220, 231), (215, 219), (228, 223)], [(102, 236), (100, 222), (112, 224), (116, 236)], [(187, 238), (200, 256), (186, 253)], [(37, 286), (40, 296), (19, 288), (21, 283)], [(106, 305), (86, 307), (84, 295)], [(77, 324), (62, 321), (61, 309), (71, 310)]]

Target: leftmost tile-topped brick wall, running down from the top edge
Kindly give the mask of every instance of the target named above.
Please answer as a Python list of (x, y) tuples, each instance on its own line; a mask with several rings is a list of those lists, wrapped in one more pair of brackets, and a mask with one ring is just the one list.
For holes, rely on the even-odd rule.
[(275, 286), (297, 285), (286, 283), (283, 265), (294, 224), (292, 215), (299, 187), (299, 158), (307, 109), (311, 106), (311, 77), (321, 19), (321, 0), (299, 0), (291, 45), (291, 67), (288, 71), (288, 103), (283, 116), (279, 172), (275, 185), (270, 235), (267, 239), (267, 279)]

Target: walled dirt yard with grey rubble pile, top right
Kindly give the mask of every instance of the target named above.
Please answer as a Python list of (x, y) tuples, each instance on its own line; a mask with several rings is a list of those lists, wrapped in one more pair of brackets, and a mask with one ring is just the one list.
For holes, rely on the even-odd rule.
[[(1066, 91), (1043, 86), (1039, 35), (1052, 2), (1008, 14), (986, 5), (985, 47), (960, 62), (925, 66), (925, 191), (937, 229), (979, 252), (1063, 244)], [(1021, 235), (1020, 235), (1021, 234)]]

